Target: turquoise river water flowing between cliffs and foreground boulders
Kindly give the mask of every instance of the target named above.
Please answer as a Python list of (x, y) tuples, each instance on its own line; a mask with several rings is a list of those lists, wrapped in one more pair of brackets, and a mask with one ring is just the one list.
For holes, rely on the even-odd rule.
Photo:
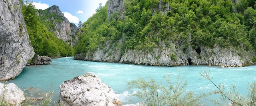
[[(177, 70), (180, 70), (177, 71)], [(256, 66), (223, 68), (217, 66), (178, 66), (178, 67), (156, 67), (156, 66), (138, 66), (133, 64), (104, 63), (104, 62), (88, 62), (81, 60), (73, 60), (73, 57), (53, 59), (51, 65), (44, 66), (26, 66), (22, 73), (14, 80), (8, 83), (15, 83), (19, 88), (26, 89), (33, 87), (47, 92), (50, 84), (53, 83), (54, 100), (59, 100), (59, 86), (65, 81), (73, 77), (83, 75), (87, 72), (93, 72), (101, 78), (101, 81), (111, 87), (116, 96), (123, 104), (130, 104), (129, 92), (127, 90), (127, 80), (137, 79), (137, 76), (151, 76), (157, 81), (164, 82), (163, 76), (171, 74), (185, 75), (188, 81), (187, 91), (193, 90), (195, 94), (207, 92), (216, 89), (213, 84), (204, 79), (198, 73), (209, 71), (215, 83), (224, 83), (227, 88), (229, 85), (236, 85), (238, 91), (244, 96), (247, 94), (247, 83), (255, 80)], [(214, 97), (213, 98), (218, 98)], [(139, 101), (133, 101), (136, 103)], [(205, 106), (212, 105), (207, 101)]]

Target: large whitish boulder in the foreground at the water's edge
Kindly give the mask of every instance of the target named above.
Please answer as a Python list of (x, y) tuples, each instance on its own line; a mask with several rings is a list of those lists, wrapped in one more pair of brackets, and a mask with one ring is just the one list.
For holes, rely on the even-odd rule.
[(67, 80), (60, 85), (60, 100), (64, 106), (117, 106), (121, 101), (114, 91), (101, 83), (101, 79), (87, 73)]

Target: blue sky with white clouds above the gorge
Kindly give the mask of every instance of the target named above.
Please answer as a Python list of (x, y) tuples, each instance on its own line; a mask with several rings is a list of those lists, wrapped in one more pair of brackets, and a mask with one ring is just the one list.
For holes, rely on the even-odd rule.
[(105, 6), (107, 0), (31, 0), (37, 9), (47, 9), (50, 6), (59, 6), (65, 17), (71, 23), (85, 22), (96, 13), (95, 10), (102, 3)]

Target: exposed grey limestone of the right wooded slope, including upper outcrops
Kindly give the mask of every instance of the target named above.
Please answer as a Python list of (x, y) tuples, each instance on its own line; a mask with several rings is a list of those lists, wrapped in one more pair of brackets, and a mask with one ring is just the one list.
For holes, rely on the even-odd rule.
[[(123, 4), (124, 0), (109, 0), (108, 18), (115, 12), (122, 13), (124, 8)], [(161, 15), (166, 15), (168, 12), (172, 11), (169, 2), (165, 3), (163, 0), (160, 0), (159, 5), (152, 9), (151, 15), (156, 12), (162, 13)], [(129, 49), (120, 46), (127, 43), (123, 38), (124, 37), (122, 37), (118, 43), (114, 44), (107, 41), (105, 44), (102, 44), (107, 46), (99, 47), (95, 51), (76, 54), (74, 59), (151, 66), (209, 65), (242, 67), (256, 64), (252, 61), (252, 58), (256, 56), (255, 52), (253, 50), (246, 50), (241, 45), (236, 47), (230, 45), (223, 48), (215, 44), (211, 48), (206, 46), (193, 48), (192, 39), (189, 37), (189, 40), (186, 42), (172, 40), (159, 41), (159, 44), (153, 49)]]

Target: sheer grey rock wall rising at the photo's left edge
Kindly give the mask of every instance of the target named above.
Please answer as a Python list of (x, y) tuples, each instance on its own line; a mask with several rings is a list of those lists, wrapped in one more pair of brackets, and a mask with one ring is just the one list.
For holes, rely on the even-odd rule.
[(18, 76), (33, 58), (19, 0), (0, 0), (0, 81)]

